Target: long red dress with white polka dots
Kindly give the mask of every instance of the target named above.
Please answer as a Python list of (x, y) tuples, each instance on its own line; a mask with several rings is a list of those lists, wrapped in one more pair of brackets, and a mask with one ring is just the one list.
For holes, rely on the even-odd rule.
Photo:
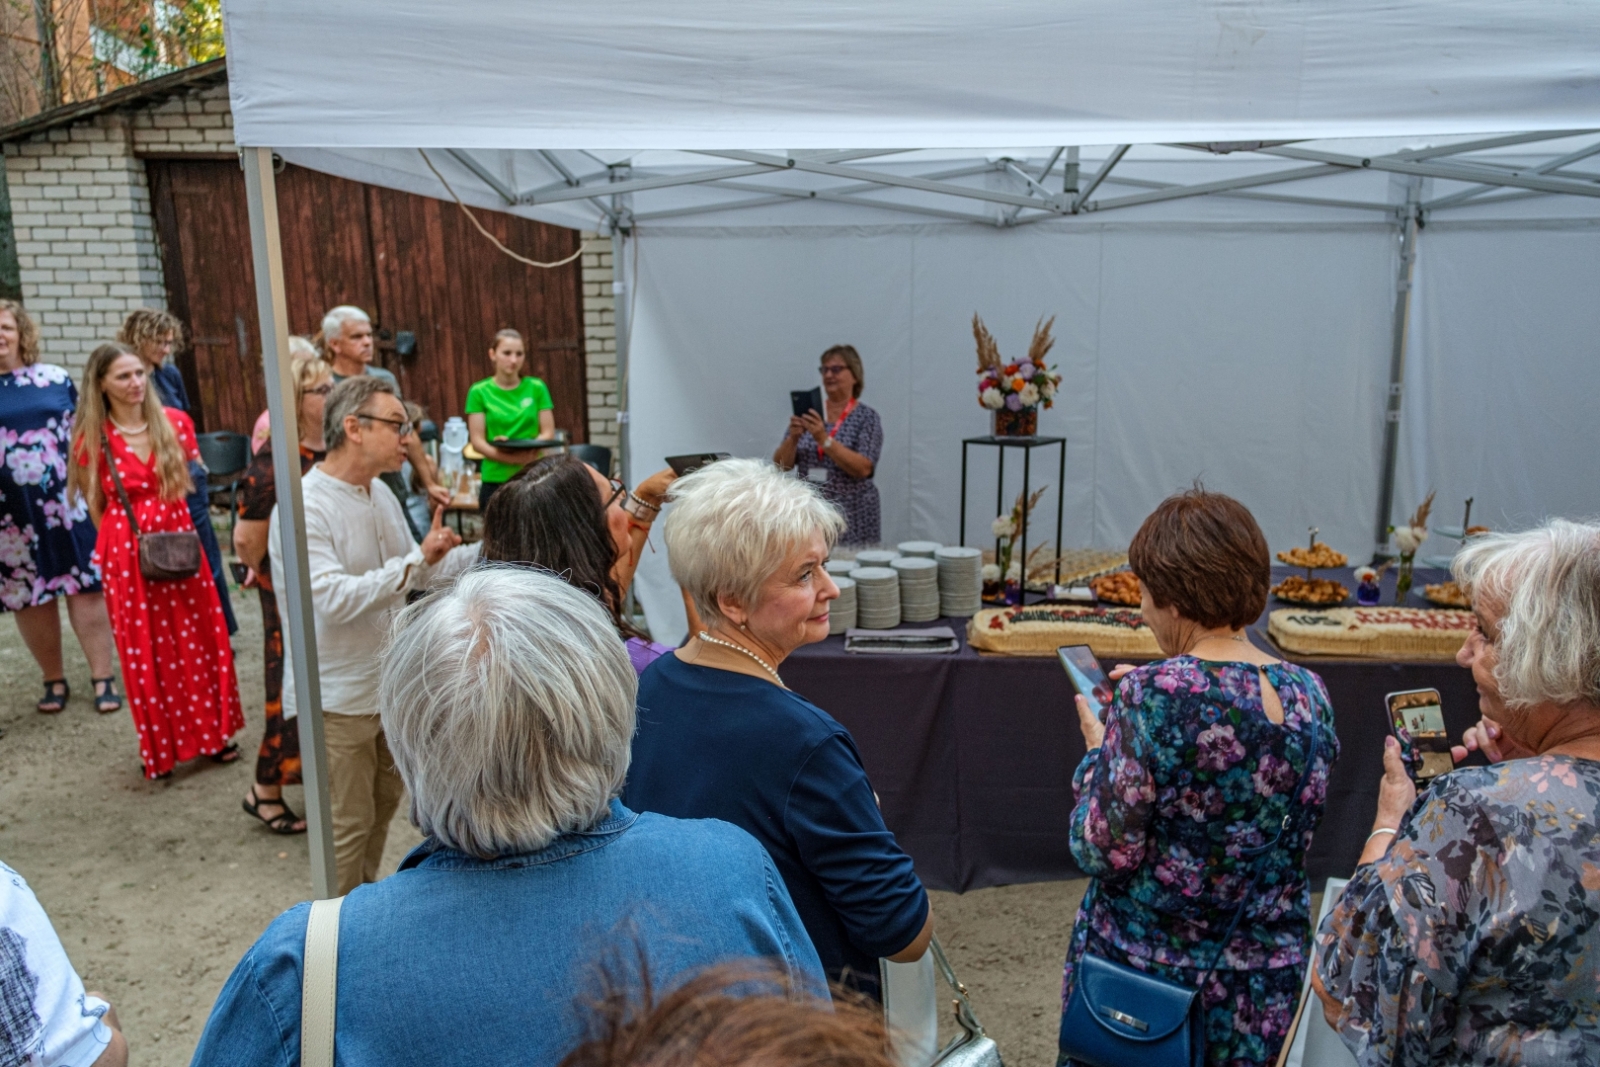
[[(165, 411), (184, 456), (198, 459), (194, 422), (176, 408)], [(139, 530), (194, 530), (184, 498), (162, 499), (155, 456), (146, 464), (114, 426), (107, 426), (106, 432), (133, 514), (139, 517)], [(139, 728), (144, 776), (157, 777), (176, 763), (221, 752), (227, 739), (245, 728), (234, 648), (227, 641), (222, 605), (205, 561), (194, 577), (147, 581), (139, 571), (133, 526), (104, 458), (99, 482), (106, 515), (94, 555), (106, 585), (106, 609), (117, 638), (128, 707)]]

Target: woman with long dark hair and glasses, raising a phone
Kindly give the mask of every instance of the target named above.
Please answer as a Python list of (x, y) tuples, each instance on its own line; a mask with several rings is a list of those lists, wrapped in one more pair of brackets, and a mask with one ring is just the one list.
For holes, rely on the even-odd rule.
[(480, 558), (539, 566), (592, 593), (627, 641), (634, 670), (643, 673), (672, 648), (640, 633), (622, 601), (675, 477), (659, 470), (629, 491), (574, 456), (547, 456), (490, 499)]

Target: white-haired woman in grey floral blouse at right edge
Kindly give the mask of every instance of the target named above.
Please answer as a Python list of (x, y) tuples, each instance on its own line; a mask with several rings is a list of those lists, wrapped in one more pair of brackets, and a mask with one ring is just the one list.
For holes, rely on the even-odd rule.
[(1456, 661), (1490, 766), (1416, 797), (1384, 741), (1362, 867), (1317, 933), (1314, 989), (1362, 1064), (1600, 1061), (1600, 525), (1470, 539), (1478, 630)]

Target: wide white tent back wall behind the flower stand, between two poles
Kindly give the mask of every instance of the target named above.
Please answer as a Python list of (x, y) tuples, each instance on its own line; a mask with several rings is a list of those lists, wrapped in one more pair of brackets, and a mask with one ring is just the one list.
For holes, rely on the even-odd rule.
[[(787, 390), (829, 344), (854, 344), (883, 418), (883, 537), (954, 542), (960, 438), (974, 400), (971, 315), (1021, 357), (1056, 315), (1066, 381), (1040, 432), (1067, 438), (1069, 545), (1126, 544), (1162, 498), (1203, 477), (1243, 499), (1274, 547), (1307, 525), (1352, 555), (1371, 541), (1395, 277), (1390, 226), (1088, 224), (672, 230), (637, 251), (629, 394), (640, 478), (669, 454), (768, 456)], [(968, 544), (989, 539), (994, 450), (973, 450)], [(1008, 456), (1006, 501), (1021, 458)], [(1054, 450), (1034, 453), (1054, 485)], [(1032, 541), (1054, 539), (1054, 490)], [(683, 630), (664, 553), (638, 593)]]

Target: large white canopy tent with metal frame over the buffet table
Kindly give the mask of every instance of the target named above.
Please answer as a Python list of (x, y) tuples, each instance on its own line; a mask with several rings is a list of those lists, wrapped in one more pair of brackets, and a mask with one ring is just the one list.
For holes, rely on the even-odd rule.
[[(274, 152), (606, 234), (635, 477), (765, 454), (784, 390), (848, 339), (885, 536), (954, 539), (978, 310), (1006, 352), (1059, 315), (1067, 544), (1125, 542), (1197, 475), (1275, 544), (1315, 523), (1352, 555), (1432, 486), (1506, 522), (1597, 510), (1600, 11), (227, 0), (226, 26), (275, 448)], [(1006, 144), (1045, 147), (973, 147)], [(325, 894), (298, 464), (275, 461)]]

